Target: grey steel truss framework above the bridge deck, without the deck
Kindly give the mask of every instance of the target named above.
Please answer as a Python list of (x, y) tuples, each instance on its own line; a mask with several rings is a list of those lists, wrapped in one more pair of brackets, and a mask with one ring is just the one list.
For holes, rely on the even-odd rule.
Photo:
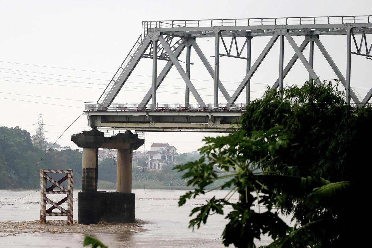
[[(209, 25), (210, 23), (210, 25)], [(233, 23), (233, 25), (231, 25)], [(255, 25), (257, 24), (257, 25)], [(204, 25), (204, 26), (203, 26)], [(156, 91), (161, 86), (170, 69), (176, 67), (185, 82), (185, 103), (189, 102), (189, 92), (193, 94), (201, 107), (205, 106), (201, 95), (190, 80), (190, 49), (193, 48), (201, 59), (208, 73), (214, 80), (214, 102), (218, 104), (218, 93), (221, 91), (226, 101), (226, 107), (235, 106), (235, 101), (241, 92), (246, 89), (246, 102), (250, 101), (250, 78), (254, 75), (260, 64), (279, 39), (279, 77), (272, 88), (283, 88), (283, 79), (289, 73), (295, 62), (299, 59), (309, 73), (309, 78), (318, 79), (314, 71), (314, 44), (337, 75), (346, 89), (346, 102), (366, 104), (372, 97), (372, 88), (363, 100), (359, 100), (352, 88), (351, 81), (351, 55), (372, 57), (372, 43), (368, 44), (368, 36), (372, 34), (372, 16), (343, 16), (343, 17), (283, 17), (263, 19), (218, 19), (218, 20), (182, 20), (182, 21), (147, 21), (142, 22), (142, 32), (135, 46), (129, 52), (125, 61), (106, 87), (100, 99), (102, 104), (110, 104), (124, 86), (135, 66), (141, 58), (153, 59), (153, 84), (144, 96), (141, 107), (156, 103)], [(346, 77), (336, 66), (334, 60), (320, 41), (322, 35), (346, 35)], [(360, 35), (360, 42), (357, 38)], [(251, 65), (250, 51), (251, 39), (254, 37), (269, 36), (270, 41), (261, 51), (259, 57)], [(297, 45), (292, 36), (304, 36), (301, 45)], [(215, 38), (215, 68), (207, 61), (196, 39)], [(226, 39), (231, 39), (230, 44)], [(238, 45), (237, 39), (245, 39), (243, 45)], [(255, 38), (256, 39), (256, 38)], [(294, 50), (286, 67), (283, 67), (283, 41), (286, 39)], [(310, 56), (307, 59), (303, 51), (310, 43)], [(356, 51), (353, 51), (352, 43)], [(187, 48), (186, 71), (179, 63), (178, 57)], [(222, 52), (220, 49), (222, 48)], [(243, 51), (246, 50), (246, 54)], [(219, 80), (219, 57), (232, 57), (247, 61), (246, 76), (243, 78), (235, 92), (230, 94)], [(160, 74), (157, 73), (157, 60), (168, 61)], [(158, 75), (158, 76), (157, 76)], [(224, 101), (222, 101), (224, 102)]]

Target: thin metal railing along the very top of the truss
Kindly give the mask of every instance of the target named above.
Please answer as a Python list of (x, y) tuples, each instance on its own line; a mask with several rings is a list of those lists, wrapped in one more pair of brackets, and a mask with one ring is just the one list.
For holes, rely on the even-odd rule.
[(306, 25), (372, 23), (372, 16), (311, 16), (311, 17), (272, 17), (247, 19), (202, 19), (202, 20), (161, 20), (142, 22), (142, 34), (148, 28), (194, 28), (213, 26), (269, 26), (269, 25)]

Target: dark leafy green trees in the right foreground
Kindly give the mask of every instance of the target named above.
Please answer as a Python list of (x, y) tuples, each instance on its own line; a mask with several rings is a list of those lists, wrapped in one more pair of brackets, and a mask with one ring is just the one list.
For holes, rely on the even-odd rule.
[[(372, 108), (346, 104), (331, 82), (310, 81), (281, 93), (283, 99), (267, 90), (248, 104), (239, 131), (205, 138), (203, 156), (176, 167), (195, 187), (180, 197), (180, 206), (220, 179), (215, 189), (232, 187), (226, 197), (194, 208), (189, 227), (199, 228), (229, 205), (225, 246), (256, 247), (254, 238), (267, 234), (273, 238), (268, 247), (355, 247), (361, 220), (350, 203), (363, 201), (368, 189)], [(238, 202), (231, 203), (235, 192)], [(264, 206), (260, 212), (251, 207), (257, 202)], [(291, 226), (280, 214), (292, 216)]]

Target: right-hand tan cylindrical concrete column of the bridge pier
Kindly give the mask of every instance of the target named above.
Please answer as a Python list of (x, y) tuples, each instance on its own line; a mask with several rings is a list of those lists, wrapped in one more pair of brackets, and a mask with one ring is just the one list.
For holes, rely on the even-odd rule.
[(132, 149), (118, 149), (116, 165), (116, 191), (132, 193)]

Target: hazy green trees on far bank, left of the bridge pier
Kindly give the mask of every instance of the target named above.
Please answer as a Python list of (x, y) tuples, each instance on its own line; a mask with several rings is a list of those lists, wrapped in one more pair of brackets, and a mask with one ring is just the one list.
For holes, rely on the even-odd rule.
[[(0, 127), (0, 189), (39, 188), (40, 169), (73, 169), (74, 186), (81, 187), (81, 152), (45, 150), (31, 143), (30, 133), (19, 127)], [(79, 176), (80, 175), (80, 176)]]

